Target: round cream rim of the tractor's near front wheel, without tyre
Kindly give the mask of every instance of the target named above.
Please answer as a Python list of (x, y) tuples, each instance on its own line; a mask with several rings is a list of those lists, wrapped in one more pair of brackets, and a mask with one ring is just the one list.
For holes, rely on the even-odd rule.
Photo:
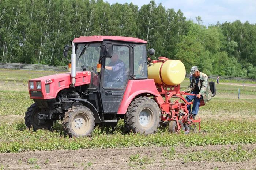
[(87, 131), (90, 129), (90, 124), (91, 120), (89, 116), (84, 113), (79, 113), (75, 115), (72, 120), (72, 129), (75, 133), (82, 135), (87, 133)]

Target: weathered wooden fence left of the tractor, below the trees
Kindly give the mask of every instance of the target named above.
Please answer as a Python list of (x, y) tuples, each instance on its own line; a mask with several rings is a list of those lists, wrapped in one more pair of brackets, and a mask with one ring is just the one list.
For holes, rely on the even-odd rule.
[(39, 64), (0, 63), (0, 68), (11, 70), (67, 72), (68, 66), (47, 66)]

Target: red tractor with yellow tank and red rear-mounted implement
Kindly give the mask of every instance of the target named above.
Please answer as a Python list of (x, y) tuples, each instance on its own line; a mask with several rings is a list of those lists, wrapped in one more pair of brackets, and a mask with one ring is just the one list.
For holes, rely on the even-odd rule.
[[(147, 42), (118, 36), (79, 37), (64, 47), (71, 54), (71, 73), (29, 80), (30, 98), (25, 124), (50, 129), (56, 120), (70, 137), (88, 136), (95, 124), (116, 126), (122, 118), (135, 133), (153, 134), (160, 124), (169, 123), (170, 132), (199, 123), (187, 110), (180, 93), (185, 67), (178, 60), (150, 60)], [(214, 84), (213, 84), (214, 85)], [(212, 86), (212, 91), (215, 91)], [(188, 94), (190, 95), (190, 94)], [(174, 99), (174, 101), (172, 101)], [(183, 102), (180, 102), (183, 101)]]

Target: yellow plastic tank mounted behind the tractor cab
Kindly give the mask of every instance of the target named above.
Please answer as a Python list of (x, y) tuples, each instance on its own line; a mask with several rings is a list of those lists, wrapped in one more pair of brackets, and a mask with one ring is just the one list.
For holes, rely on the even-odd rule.
[(180, 60), (169, 60), (165, 57), (159, 57), (159, 60), (164, 62), (152, 63), (148, 66), (148, 78), (154, 79), (157, 84), (160, 84), (161, 80), (167, 85), (181, 84), (186, 76), (184, 64)]

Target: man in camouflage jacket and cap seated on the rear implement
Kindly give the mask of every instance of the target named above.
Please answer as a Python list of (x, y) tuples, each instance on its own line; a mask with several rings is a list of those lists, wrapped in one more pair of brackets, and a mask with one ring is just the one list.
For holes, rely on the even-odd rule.
[(210, 85), (208, 82), (208, 76), (206, 74), (200, 72), (197, 66), (191, 67), (190, 74), (193, 75), (194, 79), (192, 79), (188, 88), (185, 91), (182, 91), (181, 93), (185, 92), (185, 93), (191, 93), (191, 94), (197, 95), (197, 96), (193, 96), (193, 95), (186, 96), (186, 100), (188, 102), (191, 102), (194, 99), (192, 111), (191, 111), (191, 105), (188, 105), (188, 111), (189, 111), (189, 114), (191, 113), (191, 115), (195, 119), (195, 116), (197, 115), (199, 110), (200, 100), (203, 99), (204, 102), (206, 103), (211, 100), (213, 95), (211, 93)]

